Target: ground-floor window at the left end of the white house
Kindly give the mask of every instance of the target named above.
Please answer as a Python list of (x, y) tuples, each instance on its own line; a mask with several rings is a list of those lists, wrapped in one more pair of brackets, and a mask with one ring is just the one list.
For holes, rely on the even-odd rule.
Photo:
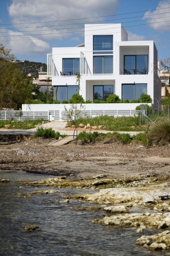
[(56, 86), (56, 100), (70, 100), (73, 94), (78, 93), (78, 85), (59, 85)]

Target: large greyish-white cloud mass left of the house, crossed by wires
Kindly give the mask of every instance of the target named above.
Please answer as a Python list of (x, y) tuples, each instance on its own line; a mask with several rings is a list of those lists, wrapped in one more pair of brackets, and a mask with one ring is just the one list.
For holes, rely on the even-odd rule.
[[(49, 35), (35, 35), (21, 37), (21, 39), (31, 39), (30, 41), (12, 41), (12, 39), (18, 39), (18, 37), (11, 37), (8, 40), (8, 46), (12, 48), (15, 52), (20, 52), (21, 49), (28, 52), (45, 52), (49, 51), (49, 43), (46, 43), (46, 38), (64, 39), (72, 36), (73, 40), (76, 41), (77, 37), (83, 35), (83, 33), (65, 33), (68, 31), (83, 30), (74, 29), (74, 27), (83, 27), (83, 24), (74, 25), (72, 30), (68, 28), (72, 27), (61, 26), (62, 24), (72, 24), (72, 23), (82, 23), (82, 22), (92, 22), (92, 21), (102, 21), (102, 18), (96, 19), (85, 19), (85, 20), (72, 20), (72, 21), (62, 21), (62, 22), (47, 22), (47, 21), (57, 21), (57, 20), (71, 20), (79, 19), (83, 17), (96, 17), (103, 15), (114, 14), (115, 10), (119, 4), (119, 0), (13, 0), (11, 5), (8, 7), (8, 13), (11, 17), (13, 27), (18, 28), (18, 31), (32, 30), (24, 34), (49, 34)], [(33, 24), (18, 24), (16, 23), (30, 23)], [(38, 23), (39, 22), (39, 23)], [(46, 23), (40, 23), (46, 22)], [(38, 26), (46, 26), (40, 27)], [(59, 25), (59, 26), (51, 26)], [(33, 27), (34, 28), (29, 28)], [(23, 28), (24, 27), (24, 28)], [(26, 27), (26, 28), (25, 28)], [(29, 29), (28, 29), (29, 28)], [(61, 29), (62, 28), (62, 29)], [(47, 30), (47, 31), (41, 31)], [(54, 29), (54, 30), (49, 30)], [(40, 30), (35, 32), (36, 30)], [(9, 31), (9, 34), (11, 32)], [(62, 33), (62, 34), (56, 34)], [(13, 33), (14, 35), (15, 33)], [(53, 35), (54, 34), (54, 35)], [(16, 35), (16, 34), (15, 34)], [(34, 38), (38, 40), (34, 40)], [(10, 41), (11, 40), (11, 41)], [(47, 53), (47, 52), (46, 52)]]

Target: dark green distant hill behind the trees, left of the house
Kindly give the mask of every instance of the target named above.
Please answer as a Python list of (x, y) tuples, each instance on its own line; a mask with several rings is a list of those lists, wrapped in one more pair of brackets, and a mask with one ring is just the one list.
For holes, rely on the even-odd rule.
[(47, 64), (34, 61), (19, 62), (19, 67), (24, 74), (32, 73), (33, 77), (38, 78), (38, 71), (43, 67), (43, 71), (47, 71)]

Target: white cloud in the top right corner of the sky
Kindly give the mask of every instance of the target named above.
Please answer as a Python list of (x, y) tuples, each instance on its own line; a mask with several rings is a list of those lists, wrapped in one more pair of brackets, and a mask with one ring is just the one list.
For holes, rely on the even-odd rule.
[[(170, 11), (170, 8), (168, 7), (170, 7), (170, 0), (160, 1), (155, 11), (147, 11), (146, 13), (144, 13), (143, 19), (149, 19), (147, 23), (153, 29), (157, 29), (159, 31), (170, 31), (170, 17), (168, 17), (170, 16), (170, 14), (167, 13)], [(166, 9), (161, 9), (161, 8), (166, 8)], [(150, 17), (147, 16), (150, 14), (154, 14), (154, 15)], [(153, 18), (154, 20), (150, 20)], [(157, 23), (157, 22), (160, 22), (160, 23)], [(152, 23), (152, 24), (149, 24), (149, 23)]]

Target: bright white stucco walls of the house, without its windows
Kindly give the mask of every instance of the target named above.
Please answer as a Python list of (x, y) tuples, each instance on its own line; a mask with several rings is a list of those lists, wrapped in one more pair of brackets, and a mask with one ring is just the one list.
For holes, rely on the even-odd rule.
[[(113, 35), (113, 74), (93, 74), (93, 35)], [(146, 83), (147, 93), (161, 98), (161, 88), (155, 82), (157, 50), (153, 41), (127, 41), (127, 32), (121, 24), (85, 24), (85, 47), (53, 48), (53, 59), (57, 76), (52, 77), (52, 85), (76, 85), (76, 76), (60, 76), (62, 58), (80, 58), (84, 53), (88, 74), (81, 75), (80, 94), (85, 100), (92, 100), (92, 85), (114, 85), (114, 93), (122, 97), (122, 84)], [(148, 54), (149, 74), (123, 75), (123, 55)], [(109, 54), (110, 55), (110, 54)]]

